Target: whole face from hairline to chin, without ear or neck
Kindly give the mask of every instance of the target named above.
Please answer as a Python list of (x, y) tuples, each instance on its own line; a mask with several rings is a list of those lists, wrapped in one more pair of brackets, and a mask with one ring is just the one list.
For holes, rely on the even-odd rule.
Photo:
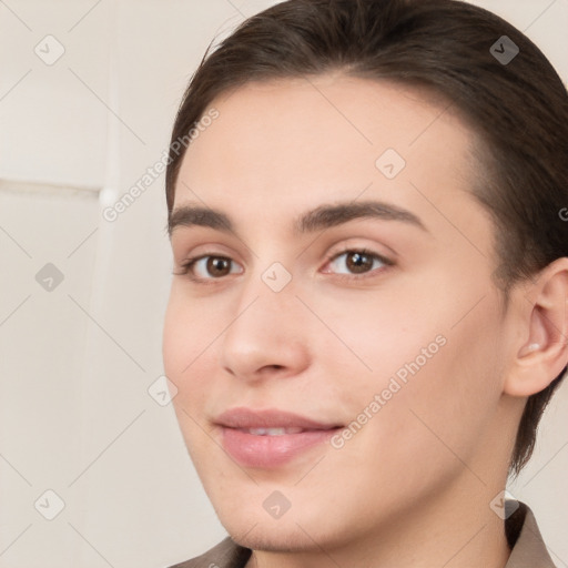
[(513, 332), (471, 132), (425, 93), (341, 74), (212, 106), (175, 189), (163, 355), (224, 527), (333, 549), (478, 498), (507, 454)]

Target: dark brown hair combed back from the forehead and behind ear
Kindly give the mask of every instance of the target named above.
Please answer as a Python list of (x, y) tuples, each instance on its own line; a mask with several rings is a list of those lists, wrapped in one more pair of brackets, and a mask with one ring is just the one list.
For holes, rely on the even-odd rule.
[[(507, 36), (507, 64), (489, 51)], [(211, 45), (210, 45), (211, 48)], [(471, 194), (494, 221), (496, 282), (510, 286), (568, 256), (568, 93), (541, 51), (520, 31), (457, 0), (288, 0), (244, 21), (207, 49), (180, 105), (172, 143), (220, 94), (252, 81), (332, 71), (429, 88), (453, 103), (481, 141)], [(184, 153), (170, 151), (169, 213)], [(518, 475), (562, 373), (529, 397), (510, 459)]]

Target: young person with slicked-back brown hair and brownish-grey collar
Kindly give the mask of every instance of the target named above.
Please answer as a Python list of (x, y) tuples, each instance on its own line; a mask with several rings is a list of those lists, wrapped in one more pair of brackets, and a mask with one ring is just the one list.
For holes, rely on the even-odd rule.
[(568, 362), (538, 48), (454, 0), (288, 0), (205, 55), (171, 148), (164, 365), (230, 534), (178, 566), (552, 567), (504, 497)]

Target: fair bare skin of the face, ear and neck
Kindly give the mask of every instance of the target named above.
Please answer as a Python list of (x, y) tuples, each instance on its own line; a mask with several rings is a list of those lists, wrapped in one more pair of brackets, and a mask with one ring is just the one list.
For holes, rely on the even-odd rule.
[[(425, 92), (337, 73), (250, 83), (212, 106), (220, 116), (186, 151), (174, 211), (220, 209), (239, 237), (173, 229), (163, 355), (189, 453), (223, 526), (254, 550), (247, 567), (504, 567), (489, 504), (526, 397), (568, 358), (568, 260), (516, 286), (504, 310), (494, 226), (469, 194), (475, 136)], [(406, 161), (393, 180), (375, 165), (389, 148)], [(308, 210), (364, 200), (424, 229), (358, 219), (292, 231)], [(362, 247), (394, 264), (354, 272), (342, 253)], [(226, 275), (205, 262), (194, 276), (210, 284), (182, 273), (206, 254), (231, 258)], [(261, 277), (274, 262), (292, 275), (277, 293)], [(342, 448), (276, 469), (241, 467), (222, 448), (214, 418), (235, 406), (349, 424), (439, 336)], [(277, 519), (263, 508), (274, 490), (291, 504)]]

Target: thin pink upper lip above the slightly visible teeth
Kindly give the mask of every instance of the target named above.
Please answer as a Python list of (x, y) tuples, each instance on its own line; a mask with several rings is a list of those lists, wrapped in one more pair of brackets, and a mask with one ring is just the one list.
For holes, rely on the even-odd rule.
[(337, 428), (335, 423), (323, 423), (280, 409), (230, 408), (217, 416), (215, 423), (227, 428), (303, 428), (326, 430)]

